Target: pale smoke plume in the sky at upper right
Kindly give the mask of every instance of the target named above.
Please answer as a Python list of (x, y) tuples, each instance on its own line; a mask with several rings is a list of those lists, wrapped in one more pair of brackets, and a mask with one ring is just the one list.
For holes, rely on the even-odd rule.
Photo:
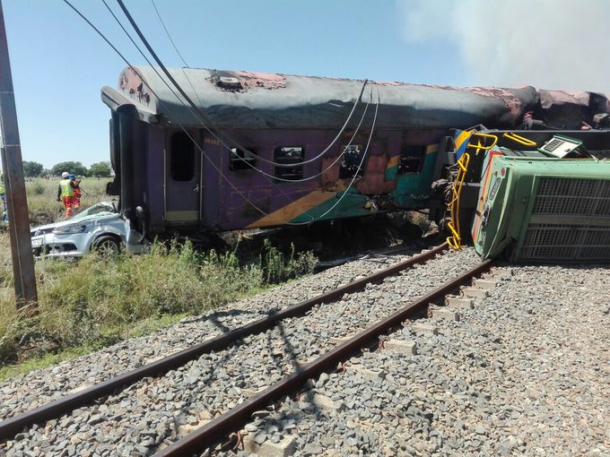
[(464, 62), (456, 71), (471, 85), (610, 92), (607, 0), (396, 0), (396, 8), (404, 39), (456, 47)]

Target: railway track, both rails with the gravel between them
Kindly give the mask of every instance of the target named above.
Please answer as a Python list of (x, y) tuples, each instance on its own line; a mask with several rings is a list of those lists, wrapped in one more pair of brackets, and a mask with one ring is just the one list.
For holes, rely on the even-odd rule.
[[(489, 263), (475, 266), (478, 263), (475, 258), (466, 259), (465, 262), (455, 253), (440, 254), (444, 248), (439, 246), (369, 277), (180, 351), (170, 358), (163, 358), (82, 392), (5, 419), (0, 422), (0, 437), (8, 440), (10, 448), (12, 438), (18, 441), (27, 439), (28, 434), (39, 428), (44, 427), (46, 435), (59, 435), (64, 429), (69, 432), (70, 427), (74, 432), (83, 422), (87, 426), (84, 428), (92, 432), (105, 430), (94, 434), (93, 441), (110, 439), (117, 444), (121, 442), (118, 436), (121, 432), (110, 432), (128, 429), (126, 416), (142, 415), (146, 416), (142, 422), (144, 427), (157, 427), (153, 425), (156, 422), (157, 425), (161, 424), (161, 428), (154, 428), (152, 433), (148, 430), (146, 439), (139, 446), (126, 445), (125, 449), (119, 450), (119, 444), (118, 453), (135, 449), (143, 454), (159, 451), (161, 455), (184, 455), (209, 448), (218, 443), (222, 436), (239, 430), (253, 412), (264, 409), (269, 401), (293, 393), (309, 378), (334, 370), (339, 361), (366, 347), (408, 316), (422, 313), (429, 303), (442, 299), (449, 291), (457, 289), (490, 266)], [(431, 272), (435, 272), (433, 263), (439, 262), (438, 257), (434, 259), (436, 255), (444, 263), (447, 263), (448, 256), (452, 257), (453, 265), (449, 269), (447, 265), (437, 266), (435, 278)], [(426, 264), (417, 268), (414, 265), (418, 263)], [(463, 272), (468, 263), (473, 263), (473, 268), (467, 274), (446, 281), (440, 288), (431, 287), (446, 275)], [(431, 272), (424, 273), (421, 271), (423, 269)], [(398, 280), (399, 284), (396, 283)], [(384, 299), (400, 291), (401, 300), (409, 300), (409, 281), (419, 281), (420, 289), (433, 290), (407, 306)], [(367, 300), (367, 305), (358, 309), (354, 304), (362, 299)], [(378, 320), (379, 315), (389, 317), (370, 325)], [(299, 323), (301, 330), (296, 331), (294, 323), (298, 321), (305, 323)], [(302, 329), (309, 329), (309, 335), (304, 339)], [(345, 338), (361, 330), (364, 330), (362, 334), (336, 348), (331, 343), (331, 339)], [(296, 337), (297, 333), (299, 338)], [(261, 349), (268, 365), (248, 363), (248, 357), (244, 357), (244, 354), (248, 351), (260, 353)], [(316, 359), (305, 364), (312, 358)], [(163, 373), (166, 375), (161, 375)], [(258, 392), (269, 384), (274, 385)], [(169, 404), (164, 406), (161, 400)], [(186, 420), (166, 420), (176, 416), (177, 407)], [(154, 414), (149, 414), (151, 411)], [(41, 425), (44, 421), (48, 422)], [(177, 443), (170, 444), (177, 435), (186, 435), (189, 429), (203, 423), (207, 425), (194, 435), (187, 435)], [(24, 432), (26, 429), (28, 431)], [(86, 435), (82, 435), (83, 442), (91, 444), (92, 440), (85, 438)], [(166, 444), (170, 446), (162, 449)], [(81, 453), (86, 449), (84, 444), (79, 446), (77, 443), (72, 450)]]

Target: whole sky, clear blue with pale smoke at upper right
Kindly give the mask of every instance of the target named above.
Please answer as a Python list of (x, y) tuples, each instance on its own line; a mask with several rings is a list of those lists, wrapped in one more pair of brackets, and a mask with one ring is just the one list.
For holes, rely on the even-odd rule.
[[(70, 1), (146, 65), (102, 0)], [(184, 63), (155, 5), (191, 67), (610, 93), (608, 0), (124, 1), (167, 66)], [(125, 62), (63, 0), (2, 4), (22, 159), (109, 160), (100, 89), (117, 87)]]

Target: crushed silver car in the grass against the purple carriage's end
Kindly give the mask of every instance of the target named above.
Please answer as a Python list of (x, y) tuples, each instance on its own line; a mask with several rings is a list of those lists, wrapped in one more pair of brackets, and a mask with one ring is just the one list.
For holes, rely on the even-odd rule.
[(81, 257), (90, 251), (115, 254), (122, 249), (141, 254), (145, 244), (114, 202), (101, 202), (70, 220), (31, 229), (31, 247), (36, 257)]

